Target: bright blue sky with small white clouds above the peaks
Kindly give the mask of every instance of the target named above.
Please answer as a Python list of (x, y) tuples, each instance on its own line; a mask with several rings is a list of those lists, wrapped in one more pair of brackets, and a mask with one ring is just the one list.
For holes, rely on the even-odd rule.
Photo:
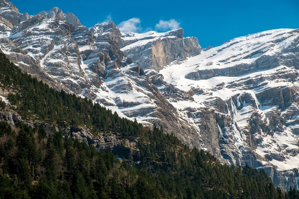
[[(275, 28), (299, 28), (299, 0), (11, 0), (30, 15), (57, 6), (87, 27), (112, 19), (123, 31), (183, 27), (202, 47)], [(42, 2), (42, 3), (41, 3)]]

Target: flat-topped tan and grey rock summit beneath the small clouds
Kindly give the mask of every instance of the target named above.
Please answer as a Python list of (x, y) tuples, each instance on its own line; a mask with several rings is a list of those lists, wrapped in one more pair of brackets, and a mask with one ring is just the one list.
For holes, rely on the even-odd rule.
[(201, 52), (197, 38), (184, 38), (182, 28), (163, 34), (126, 34), (120, 45), (125, 55), (138, 62), (143, 69), (156, 71), (173, 61), (182, 61)]

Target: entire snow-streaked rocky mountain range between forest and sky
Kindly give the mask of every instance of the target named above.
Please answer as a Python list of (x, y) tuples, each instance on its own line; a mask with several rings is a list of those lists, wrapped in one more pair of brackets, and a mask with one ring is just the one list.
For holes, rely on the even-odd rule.
[(57, 7), (36, 15), (7, 0), (0, 7), (0, 48), (23, 72), (162, 125), (221, 163), (263, 168), (284, 190), (298, 186), (298, 29), (202, 49), (182, 28), (123, 33), (113, 21), (86, 28)]

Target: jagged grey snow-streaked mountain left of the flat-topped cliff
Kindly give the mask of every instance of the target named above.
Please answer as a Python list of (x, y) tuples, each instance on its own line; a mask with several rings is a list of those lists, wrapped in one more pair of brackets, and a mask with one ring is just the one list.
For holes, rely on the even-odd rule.
[[(10, 36), (0, 41), (0, 47), (23, 71), (57, 90), (87, 97), (144, 124), (162, 124), (167, 132), (192, 145), (190, 137), (198, 135), (196, 126), (180, 118), (140, 64), (124, 55), (117, 43), (123, 40), (122, 33), (114, 22), (87, 29), (79, 22), (73, 23), (78, 21), (74, 16), (67, 21), (69, 15), (73, 16), (52, 8), (31, 16), (15, 26)], [(172, 40), (175, 34), (168, 36)], [(173, 42), (181, 45), (180, 40), (185, 39)], [(199, 45), (195, 48), (200, 49)], [(177, 123), (178, 118), (184, 125)], [(195, 140), (193, 145), (200, 143)]]

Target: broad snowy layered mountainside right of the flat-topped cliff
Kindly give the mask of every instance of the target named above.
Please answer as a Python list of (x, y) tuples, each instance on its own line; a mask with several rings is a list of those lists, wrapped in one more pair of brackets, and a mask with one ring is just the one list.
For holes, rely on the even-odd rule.
[[(215, 111), (216, 121), (209, 125), (218, 126), (220, 153), (229, 164), (269, 168), (275, 183), (294, 186), (299, 167), (298, 46), (298, 29), (247, 35), (169, 65), (159, 77)], [(200, 110), (189, 109), (184, 111), (195, 122)], [(248, 150), (253, 156), (247, 156)], [(286, 175), (291, 178), (283, 179)]]

